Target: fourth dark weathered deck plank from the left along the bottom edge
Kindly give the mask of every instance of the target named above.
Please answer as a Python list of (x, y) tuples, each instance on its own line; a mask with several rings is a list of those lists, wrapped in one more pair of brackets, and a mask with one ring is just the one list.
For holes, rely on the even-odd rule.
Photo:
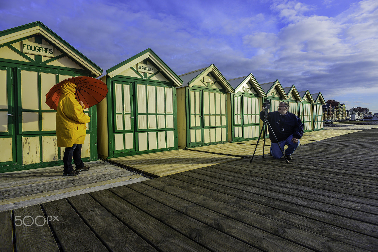
[(67, 200), (111, 251), (157, 251), (88, 194), (73, 196), (67, 198)]

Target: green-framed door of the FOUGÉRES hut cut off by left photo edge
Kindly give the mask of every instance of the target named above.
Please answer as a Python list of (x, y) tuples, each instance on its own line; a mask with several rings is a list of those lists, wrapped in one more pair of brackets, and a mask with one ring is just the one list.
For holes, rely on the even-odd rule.
[(0, 167), (17, 161), (13, 88), (11, 68), (0, 66)]

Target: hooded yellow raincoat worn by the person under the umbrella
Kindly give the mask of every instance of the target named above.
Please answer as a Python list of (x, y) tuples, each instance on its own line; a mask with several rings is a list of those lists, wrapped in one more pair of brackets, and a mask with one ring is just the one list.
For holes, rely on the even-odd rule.
[(84, 143), (85, 123), (91, 121), (75, 98), (76, 85), (67, 81), (60, 86), (60, 98), (56, 113), (56, 138), (59, 147), (72, 147)]

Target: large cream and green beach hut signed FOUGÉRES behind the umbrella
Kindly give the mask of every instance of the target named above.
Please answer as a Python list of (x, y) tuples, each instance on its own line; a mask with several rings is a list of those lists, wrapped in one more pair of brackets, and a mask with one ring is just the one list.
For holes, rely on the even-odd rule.
[[(0, 32), (0, 172), (62, 164), (56, 143), (56, 111), (45, 95), (59, 81), (98, 77), (102, 69), (41, 22)], [(96, 106), (82, 160), (97, 159)]]

